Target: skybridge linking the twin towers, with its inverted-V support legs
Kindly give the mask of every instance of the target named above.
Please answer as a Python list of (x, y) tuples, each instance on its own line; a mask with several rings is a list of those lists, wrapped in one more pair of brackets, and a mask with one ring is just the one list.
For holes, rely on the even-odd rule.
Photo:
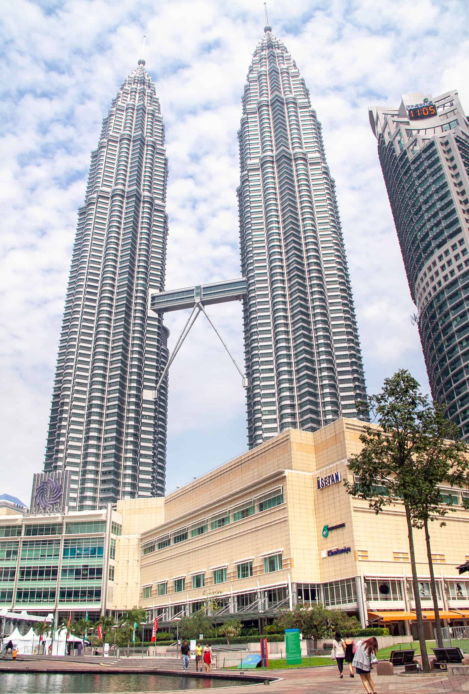
[(218, 303), (226, 303), (227, 301), (242, 301), (244, 295), (246, 294), (246, 279), (239, 278), (239, 280), (228, 280), (225, 282), (213, 282), (210, 285), (196, 285), (195, 287), (185, 287), (184, 289), (173, 289), (171, 291), (158, 291), (155, 294), (151, 294), (150, 297), (150, 310), (155, 313), (167, 313), (169, 311), (180, 311), (183, 309), (191, 308), (191, 314), (187, 319), (176, 346), (168, 359), (167, 365), (164, 367), (164, 371), (157, 382), (155, 389), (155, 397), (160, 389), (164, 377), (167, 375), (169, 367), (174, 361), (182, 343), (185, 341), (189, 330), (192, 325), (196, 322), (197, 316), (200, 313), (205, 315), (207, 321), (212, 325), (212, 328), (219, 337), (221, 344), (230, 355), (230, 359), (233, 364), (235, 364), (241, 378), (243, 379), (243, 386), (248, 387), (248, 380), (246, 375), (239, 368), (235, 357), (226, 346), (223, 338), (221, 337), (218, 330), (216, 330), (214, 324), (210, 320), (207, 312), (205, 311), (205, 306), (211, 306)]

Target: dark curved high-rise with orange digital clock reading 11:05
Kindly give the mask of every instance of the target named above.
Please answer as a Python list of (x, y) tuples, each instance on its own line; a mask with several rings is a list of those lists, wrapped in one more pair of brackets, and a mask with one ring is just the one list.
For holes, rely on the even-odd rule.
[(432, 396), (469, 440), (468, 119), (455, 91), (369, 112)]

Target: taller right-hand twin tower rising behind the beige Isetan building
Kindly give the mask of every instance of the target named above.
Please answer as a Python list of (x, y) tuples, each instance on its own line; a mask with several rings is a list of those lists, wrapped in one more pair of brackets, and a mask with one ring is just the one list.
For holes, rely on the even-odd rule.
[(367, 418), (334, 179), (296, 63), (270, 26), (243, 96), (238, 188), (248, 441)]

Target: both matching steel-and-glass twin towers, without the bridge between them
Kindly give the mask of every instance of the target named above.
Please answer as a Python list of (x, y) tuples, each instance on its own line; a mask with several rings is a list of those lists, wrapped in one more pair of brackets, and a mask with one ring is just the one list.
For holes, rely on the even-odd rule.
[[(79, 510), (164, 494), (167, 377), (157, 384), (169, 333), (148, 305), (164, 290), (168, 166), (144, 65), (103, 121), (78, 212), (44, 470), (71, 472), (70, 506)], [(355, 403), (366, 391), (321, 124), (270, 26), (242, 101), (237, 194), (252, 447), (289, 427), (364, 417)]]

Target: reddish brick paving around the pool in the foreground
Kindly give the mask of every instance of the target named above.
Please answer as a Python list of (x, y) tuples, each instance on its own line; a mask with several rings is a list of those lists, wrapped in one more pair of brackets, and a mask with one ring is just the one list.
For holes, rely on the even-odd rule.
[[(34, 660), (28, 658), (19, 660), (13, 663), (10, 660), (0, 661), (0, 672), (109, 672), (109, 673), (128, 673), (128, 672), (168, 672), (171, 675), (181, 675), (182, 668), (173, 668), (171, 670), (166, 667), (157, 668), (157, 661), (153, 661), (154, 666), (151, 668), (151, 663), (145, 662), (145, 666), (139, 663), (106, 663), (106, 659), (96, 658), (94, 662), (73, 662), (62, 661), (61, 659), (47, 658)], [(150, 666), (150, 667), (149, 667)], [(355, 678), (350, 678), (344, 675), (343, 679), (339, 679), (336, 668), (298, 668), (292, 670), (269, 670), (266, 672), (248, 671), (246, 675), (255, 675), (259, 677), (260, 684), (255, 684), (255, 691), (266, 690), (264, 688), (263, 677), (279, 677), (278, 682), (270, 682), (271, 694), (364, 694), (364, 687), (361, 684), (360, 678), (355, 675)], [(223, 673), (223, 677), (222, 676)], [(191, 674), (194, 674), (191, 672)], [(235, 670), (212, 672), (212, 675), (219, 675), (219, 682), (214, 683), (214, 686), (223, 687), (224, 677), (232, 677), (238, 673)], [(201, 675), (199, 675), (200, 677)], [(469, 675), (454, 675), (448, 676), (443, 673), (432, 675), (386, 675), (378, 677), (373, 672), (376, 691), (378, 694), (469, 694)], [(262, 689), (261, 689), (262, 688)], [(229, 694), (247, 694), (246, 686), (233, 686), (228, 690)]]

